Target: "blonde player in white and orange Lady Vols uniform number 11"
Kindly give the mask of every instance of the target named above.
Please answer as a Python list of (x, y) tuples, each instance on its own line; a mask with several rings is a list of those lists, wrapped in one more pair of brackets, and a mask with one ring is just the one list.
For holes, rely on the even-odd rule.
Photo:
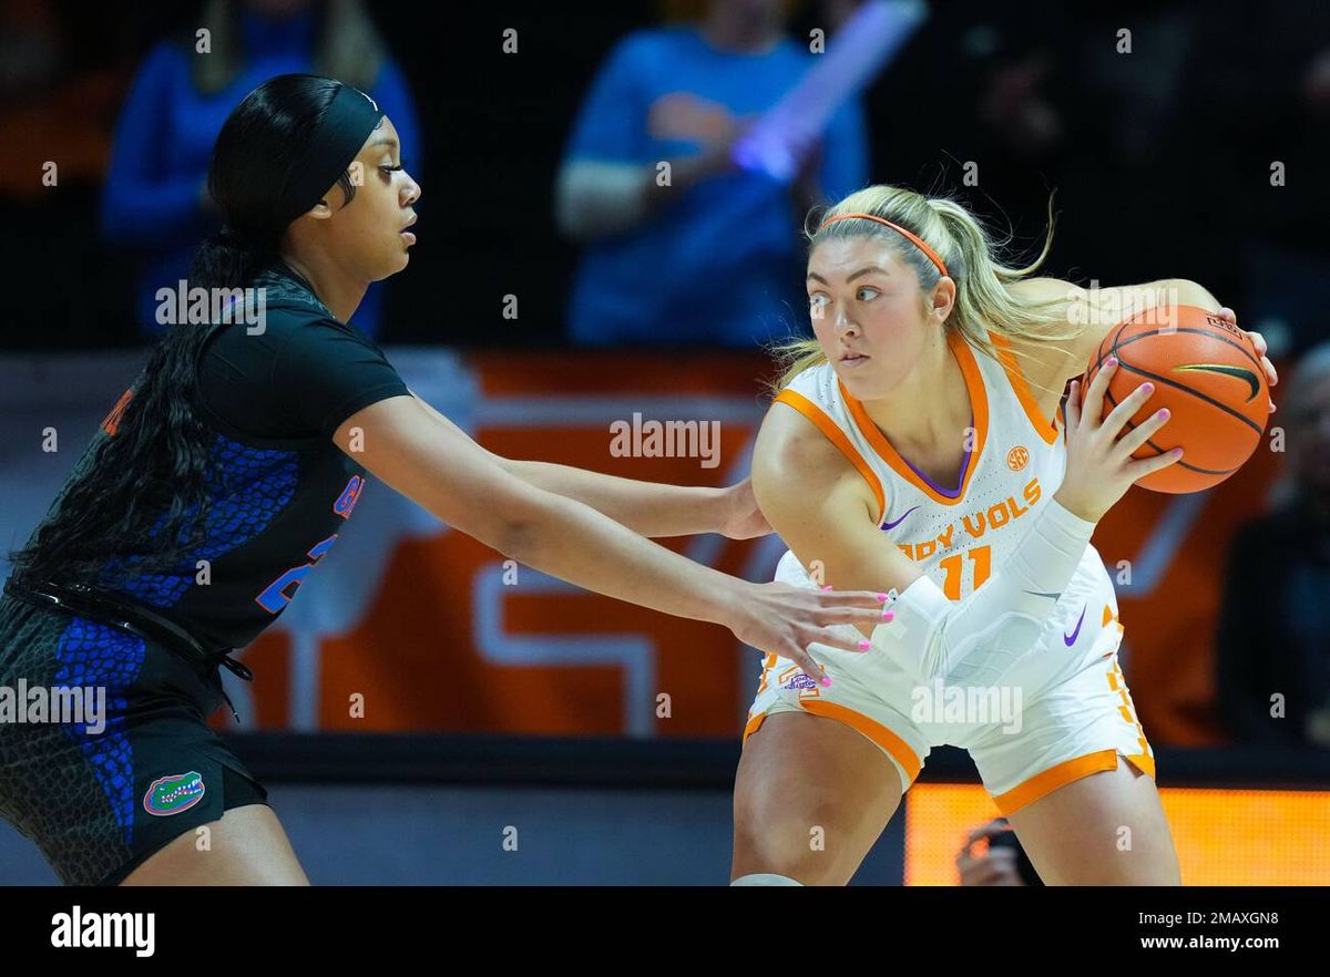
[(895, 618), (861, 629), (862, 651), (814, 646), (830, 685), (765, 659), (733, 884), (849, 881), (939, 744), (970, 752), (1045, 883), (1180, 883), (1089, 544), (1177, 456), (1130, 459), (1166, 420), (1124, 431), (1148, 384), (1100, 420), (1112, 366), (1072, 383), (1065, 416), (1059, 401), (1132, 299), (1233, 314), (1184, 279), (1089, 292), (1028, 278), (1049, 242), (1001, 266), (963, 206), (891, 186), (811, 234), (815, 340), (785, 348), (753, 488), (790, 546), (777, 580), (891, 590)]

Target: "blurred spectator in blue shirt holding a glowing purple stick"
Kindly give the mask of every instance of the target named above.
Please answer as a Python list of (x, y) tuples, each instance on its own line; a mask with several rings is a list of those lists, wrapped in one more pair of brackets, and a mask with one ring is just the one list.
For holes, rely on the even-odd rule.
[(560, 230), (587, 245), (575, 342), (747, 347), (806, 330), (799, 229), (813, 206), (864, 185), (868, 162), (858, 101), (789, 183), (730, 161), (743, 128), (817, 57), (785, 36), (785, 7), (712, 0), (701, 23), (634, 32), (601, 66), (556, 189)]

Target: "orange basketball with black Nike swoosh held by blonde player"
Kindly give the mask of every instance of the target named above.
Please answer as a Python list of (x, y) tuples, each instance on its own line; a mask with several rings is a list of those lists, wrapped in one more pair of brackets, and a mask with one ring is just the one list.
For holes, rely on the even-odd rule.
[(1182, 447), (1182, 459), (1136, 484), (1154, 492), (1200, 492), (1218, 485), (1252, 457), (1270, 415), (1261, 358), (1242, 330), (1196, 306), (1150, 308), (1119, 323), (1087, 367), (1088, 387), (1109, 356), (1104, 416), (1146, 380), (1154, 392), (1119, 433), (1121, 437), (1160, 408), (1169, 417), (1136, 449), (1134, 459)]

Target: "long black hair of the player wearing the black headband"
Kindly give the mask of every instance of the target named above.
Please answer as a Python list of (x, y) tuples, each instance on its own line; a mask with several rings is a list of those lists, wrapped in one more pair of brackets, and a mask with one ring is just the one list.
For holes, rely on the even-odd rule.
[[(223, 226), (194, 255), (190, 288), (242, 288), (278, 258), (286, 231), (278, 201), (339, 86), (313, 74), (278, 76), (226, 118), (207, 171)], [(350, 173), (338, 183), (350, 203)], [(109, 560), (125, 560), (133, 573), (169, 573), (203, 541), (209, 483), (219, 475), (210, 451), (217, 435), (196, 407), (207, 334), (193, 323), (168, 328), (132, 396), (104, 421), (113, 436), (98, 432), (47, 518), (9, 552), (16, 574), (96, 584)]]

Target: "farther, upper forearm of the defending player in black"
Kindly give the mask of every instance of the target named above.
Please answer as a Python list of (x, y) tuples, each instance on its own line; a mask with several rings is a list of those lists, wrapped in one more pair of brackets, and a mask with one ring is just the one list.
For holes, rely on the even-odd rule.
[(725, 517), (725, 489), (662, 485), (545, 461), (500, 464), (527, 484), (576, 498), (642, 536), (716, 533)]

